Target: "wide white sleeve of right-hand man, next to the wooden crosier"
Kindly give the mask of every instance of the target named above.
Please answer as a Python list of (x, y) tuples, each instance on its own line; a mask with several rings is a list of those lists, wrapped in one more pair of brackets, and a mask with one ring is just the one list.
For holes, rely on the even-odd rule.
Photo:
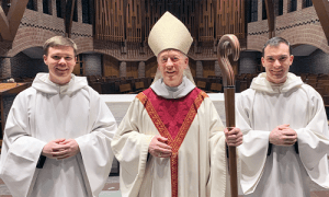
[[(243, 134), (243, 143), (238, 147), (241, 159), (241, 188), (252, 193), (263, 172), (269, 149), (269, 130), (253, 130), (251, 126), (254, 90), (247, 90), (237, 97), (236, 127)], [(257, 146), (254, 146), (257, 144)]]

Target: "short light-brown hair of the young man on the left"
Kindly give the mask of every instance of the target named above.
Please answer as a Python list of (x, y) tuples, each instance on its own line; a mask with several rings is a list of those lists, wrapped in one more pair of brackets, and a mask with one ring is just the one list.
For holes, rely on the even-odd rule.
[(68, 37), (64, 37), (64, 36), (54, 36), (49, 39), (47, 39), (44, 44), (44, 55), (47, 56), (48, 55), (48, 49), (49, 47), (55, 47), (55, 46), (68, 46), (68, 47), (72, 47), (75, 50), (75, 56), (77, 56), (77, 45), (76, 43), (68, 38)]

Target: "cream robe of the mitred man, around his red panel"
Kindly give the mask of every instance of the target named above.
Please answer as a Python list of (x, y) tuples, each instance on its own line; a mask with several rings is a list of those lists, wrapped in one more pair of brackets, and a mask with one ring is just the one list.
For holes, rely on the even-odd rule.
[[(206, 97), (179, 149), (179, 197), (230, 196), (223, 129), (216, 108)], [(135, 99), (112, 141), (121, 164), (123, 197), (171, 196), (170, 159), (148, 154), (156, 135), (159, 132), (146, 108)]]

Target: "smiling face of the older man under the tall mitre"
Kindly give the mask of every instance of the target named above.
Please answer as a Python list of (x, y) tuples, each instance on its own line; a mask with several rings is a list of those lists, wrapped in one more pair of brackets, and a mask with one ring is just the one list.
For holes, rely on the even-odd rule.
[(188, 65), (189, 58), (179, 50), (163, 50), (158, 55), (158, 68), (168, 86), (178, 86), (182, 83)]

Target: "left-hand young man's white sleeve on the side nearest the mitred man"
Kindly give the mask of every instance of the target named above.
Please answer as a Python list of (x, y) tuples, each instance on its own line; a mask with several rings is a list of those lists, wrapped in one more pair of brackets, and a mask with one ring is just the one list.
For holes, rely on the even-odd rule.
[(89, 134), (76, 138), (82, 155), (83, 167), (93, 197), (101, 193), (111, 171), (113, 152), (111, 141), (116, 132), (116, 121), (100, 95), (90, 90)]

